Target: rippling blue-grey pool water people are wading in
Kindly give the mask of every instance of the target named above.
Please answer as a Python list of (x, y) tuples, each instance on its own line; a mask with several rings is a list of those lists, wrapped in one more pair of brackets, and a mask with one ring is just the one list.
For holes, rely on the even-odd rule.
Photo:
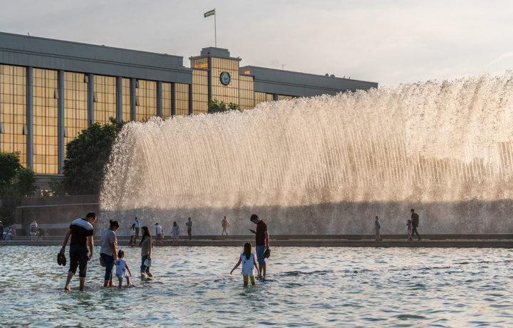
[[(509, 327), (511, 250), (274, 247), (269, 276), (242, 287), (241, 247), (159, 247), (155, 279), (63, 292), (58, 247), (0, 247), (0, 327)], [(135, 274), (140, 250), (125, 249)], [(239, 272), (239, 270), (237, 270)]]

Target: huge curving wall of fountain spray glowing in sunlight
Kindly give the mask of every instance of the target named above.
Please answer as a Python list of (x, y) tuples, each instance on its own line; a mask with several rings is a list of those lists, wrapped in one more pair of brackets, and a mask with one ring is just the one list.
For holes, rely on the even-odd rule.
[[(128, 233), (134, 216), (185, 232), (511, 232), (513, 72), (337, 96), (252, 111), (125, 125), (100, 195)], [(123, 230), (126, 229), (126, 230)]]

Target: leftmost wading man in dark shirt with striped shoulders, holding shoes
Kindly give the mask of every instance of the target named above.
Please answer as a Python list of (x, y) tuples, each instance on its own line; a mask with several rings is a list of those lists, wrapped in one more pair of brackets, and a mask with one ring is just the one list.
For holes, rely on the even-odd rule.
[(89, 212), (85, 219), (77, 219), (71, 222), (68, 232), (66, 233), (63, 247), (61, 248), (61, 253), (63, 253), (66, 250), (66, 244), (68, 244), (69, 237), (71, 236), (70, 269), (68, 271), (68, 278), (66, 279), (66, 286), (64, 287), (66, 291), (70, 290), (69, 283), (73, 275), (75, 275), (77, 267), (79, 269), (78, 277), (80, 277), (80, 290), (83, 291), (84, 283), (86, 282), (87, 262), (93, 257), (93, 223), (95, 221), (96, 214)]

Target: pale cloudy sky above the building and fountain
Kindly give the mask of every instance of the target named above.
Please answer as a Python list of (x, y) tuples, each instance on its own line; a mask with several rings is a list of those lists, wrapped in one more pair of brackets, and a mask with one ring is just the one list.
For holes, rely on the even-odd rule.
[[(0, 0), (0, 31), (399, 86), (513, 69), (513, 1)], [(0, 45), (1, 46), (1, 45)]]

